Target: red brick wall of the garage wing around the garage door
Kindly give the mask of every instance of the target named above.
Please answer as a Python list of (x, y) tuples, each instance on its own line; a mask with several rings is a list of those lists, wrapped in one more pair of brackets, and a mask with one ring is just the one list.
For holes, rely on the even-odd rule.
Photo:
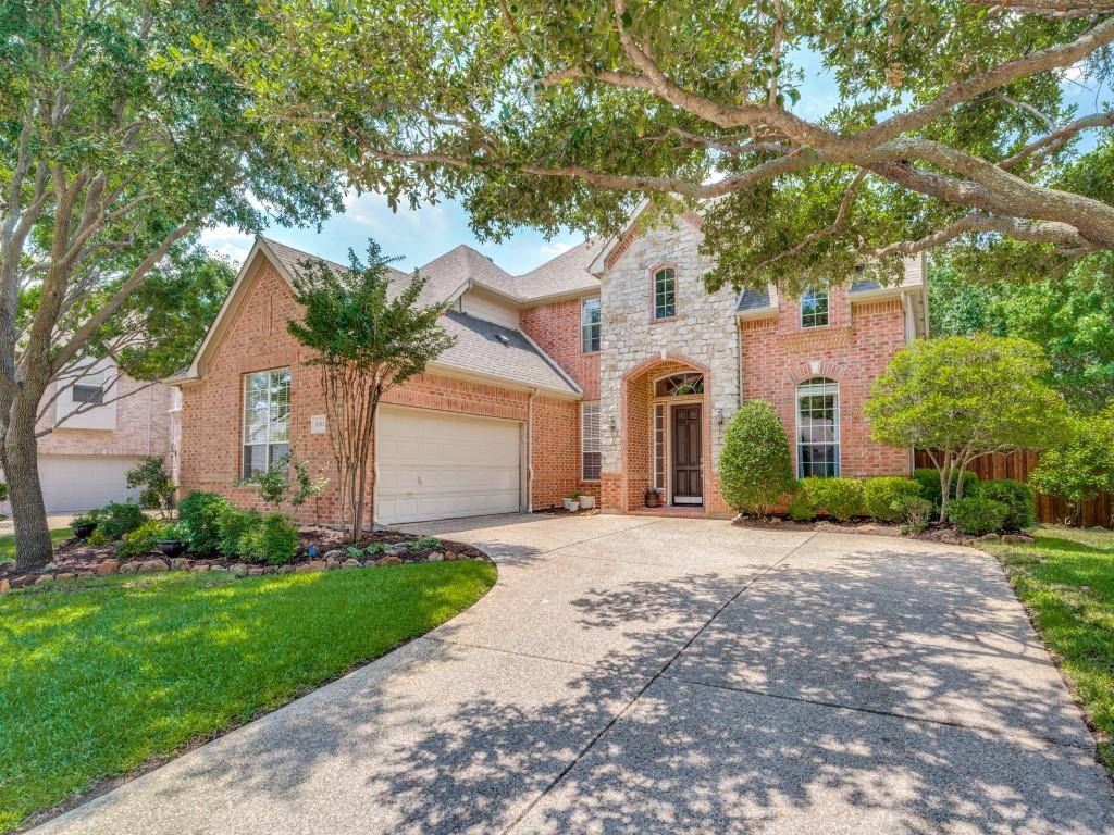
[[(198, 383), (183, 386), (180, 489), (208, 490), (240, 507), (258, 507), (254, 488), (236, 487), (242, 455), (243, 375), (287, 366), (291, 370), (291, 450), (314, 477), (331, 480), (325, 492), (296, 512), (300, 521), (339, 519), (336, 474), (326, 434), (310, 434), (310, 418), (324, 414), (319, 371), (306, 367), (305, 351), (287, 333), (299, 314), (286, 282), (262, 262), (229, 327)], [(384, 403), (526, 421), (528, 394), (497, 385), (421, 374), (392, 390)], [(579, 414), (575, 401), (537, 396), (534, 401), (534, 504), (548, 507), (576, 487), (579, 468)], [(374, 451), (372, 451), (374, 455)], [(374, 484), (368, 479), (371, 518)], [(290, 512), (292, 509), (284, 508)]]

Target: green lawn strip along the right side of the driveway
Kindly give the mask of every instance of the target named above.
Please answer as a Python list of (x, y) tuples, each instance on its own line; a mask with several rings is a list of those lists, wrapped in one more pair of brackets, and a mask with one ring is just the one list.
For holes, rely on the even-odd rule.
[(995, 544), (1017, 596), (1059, 656), (1114, 776), (1114, 532), (1039, 528), (1036, 542)]

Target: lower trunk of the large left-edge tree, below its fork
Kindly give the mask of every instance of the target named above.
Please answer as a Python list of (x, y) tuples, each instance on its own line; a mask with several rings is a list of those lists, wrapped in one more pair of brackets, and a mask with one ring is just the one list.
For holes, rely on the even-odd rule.
[(16, 397), (0, 450), (16, 524), (16, 568), (20, 570), (37, 568), (53, 557), (39, 483), (38, 441), (35, 438), (38, 402), (26, 392)]

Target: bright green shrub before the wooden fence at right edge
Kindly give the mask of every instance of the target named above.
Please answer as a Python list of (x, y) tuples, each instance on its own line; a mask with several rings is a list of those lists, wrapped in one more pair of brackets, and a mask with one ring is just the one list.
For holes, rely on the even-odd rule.
[(1072, 422), (1061, 443), (1040, 453), (1029, 485), (1067, 502), (1077, 522), (1083, 502), (1114, 493), (1114, 407)]

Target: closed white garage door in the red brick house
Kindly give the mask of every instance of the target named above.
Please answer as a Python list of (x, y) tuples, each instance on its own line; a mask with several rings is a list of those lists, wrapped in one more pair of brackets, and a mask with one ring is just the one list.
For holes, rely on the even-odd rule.
[(380, 524), (520, 509), (520, 423), (384, 407), (375, 440)]

